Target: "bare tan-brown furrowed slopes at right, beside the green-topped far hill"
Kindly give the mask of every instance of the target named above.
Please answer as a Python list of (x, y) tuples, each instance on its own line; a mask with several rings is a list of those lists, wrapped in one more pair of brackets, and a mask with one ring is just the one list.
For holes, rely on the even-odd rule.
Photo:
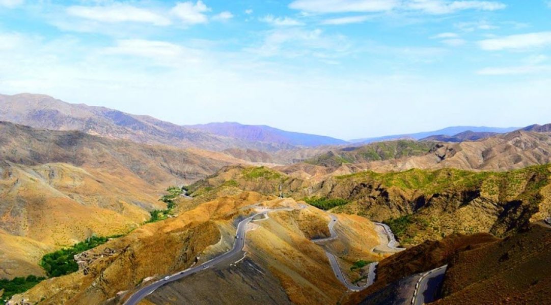
[[(419, 142), (410, 142), (419, 145)], [(429, 142), (433, 143), (433, 142)], [(371, 150), (369, 146), (359, 148)], [(437, 143), (424, 151), (415, 150), (403, 158), (378, 159), (372, 161), (347, 157), (349, 152), (322, 154), (310, 159), (310, 163), (325, 165), (329, 172), (372, 170), (379, 173), (404, 171), (408, 169), (456, 168), (465, 170), (505, 171), (520, 169), (530, 165), (551, 162), (551, 134), (547, 132), (513, 131), (474, 142)], [(352, 151), (353, 153), (354, 151)], [(342, 156), (341, 156), (342, 155)], [(347, 159), (348, 158), (348, 159)], [(322, 160), (322, 161), (320, 161)], [(340, 165), (340, 166), (339, 166)], [(293, 167), (293, 165), (288, 165)], [(290, 170), (280, 168), (290, 173)]]

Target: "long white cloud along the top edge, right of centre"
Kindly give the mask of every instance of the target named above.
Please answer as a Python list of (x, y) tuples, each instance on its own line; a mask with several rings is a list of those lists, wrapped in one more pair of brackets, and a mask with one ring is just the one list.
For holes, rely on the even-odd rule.
[(446, 0), (295, 0), (292, 9), (311, 13), (387, 12), (390, 10), (419, 10), (428, 14), (450, 14), (460, 10), (499, 10), (506, 5), (495, 1)]

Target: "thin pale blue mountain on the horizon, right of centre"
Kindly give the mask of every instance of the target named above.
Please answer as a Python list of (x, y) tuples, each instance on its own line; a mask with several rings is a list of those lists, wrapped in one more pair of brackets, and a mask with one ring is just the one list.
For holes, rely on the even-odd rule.
[(517, 130), (518, 127), (476, 127), (476, 126), (453, 126), (453, 127), (446, 127), (444, 129), (434, 130), (434, 131), (425, 131), (425, 132), (417, 132), (414, 134), (402, 134), (402, 135), (391, 135), (391, 136), (382, 136), (382, 137), (372, 137), (372, 138), (360, 138), (355, 140), (350, 140), (352, 143), (371, 143), (371, 142), (379, 142), (379, 141), (388, 141), (388, 140), (396, 140), (396, 139), (413, 139), (413, 140), (420, 140), (422, 138), (430, 137), (430, 136), (436, 136), (436, 135), (445, 135), (445, 136), (453, 136), (460, 134), (461, 132), (465, 131), (472, 131), (472, 132), (496, 132), (499, 134), (504, 134), (506, 132)]

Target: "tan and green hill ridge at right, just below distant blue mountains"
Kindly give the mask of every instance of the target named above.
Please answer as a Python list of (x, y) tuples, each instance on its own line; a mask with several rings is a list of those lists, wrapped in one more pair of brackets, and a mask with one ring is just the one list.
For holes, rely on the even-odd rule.
[[(407, 140), (371, 143), (359, 148), (333, 149), (306, 162), (337, 175), (364, 170), (387, 173), (442, 168), (505, 171), (550, 163), (549, 151), (550, 133), (517, 130), (458, 143)], [(308, 168), (308, 174), (320, 171), (316, 167)], [(296, 168), (298, 165), (294, 164), (278, 169), (292, 174)]]

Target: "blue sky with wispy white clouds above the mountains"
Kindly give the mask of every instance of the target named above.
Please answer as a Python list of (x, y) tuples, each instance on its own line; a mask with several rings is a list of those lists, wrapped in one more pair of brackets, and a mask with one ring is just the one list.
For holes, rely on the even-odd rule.
[(551, 1), (0, 0), (0, 93), (343, 139), (551, 123)]

